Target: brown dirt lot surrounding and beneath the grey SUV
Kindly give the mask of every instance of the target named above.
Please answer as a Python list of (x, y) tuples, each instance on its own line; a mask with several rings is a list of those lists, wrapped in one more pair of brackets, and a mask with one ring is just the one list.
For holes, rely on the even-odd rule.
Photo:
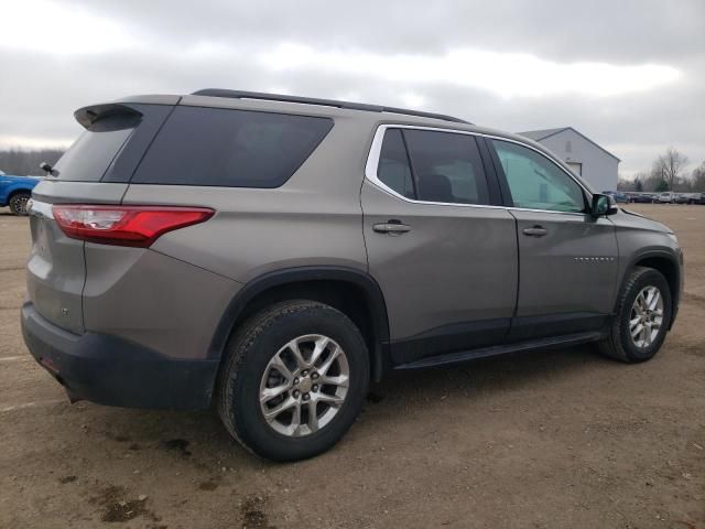
[(705, 206), (650, 363), (589, 347), (394, 375), (332, 452), (274, 465), (210, 412), (69, 404), (19, 328), (28, 222), (0, 210), (0, 527), (705, 528)]

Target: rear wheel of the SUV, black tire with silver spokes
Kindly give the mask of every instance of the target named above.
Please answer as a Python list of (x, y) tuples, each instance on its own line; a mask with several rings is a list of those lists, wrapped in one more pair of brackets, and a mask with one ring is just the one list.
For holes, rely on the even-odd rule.
[[(313, 367), (304, 369), (294, 361), (290, 346), (301, 339), (296, 347), (301, 348), (301, 357), (310, 361), (312, 335), (321, 344), (326, 343), (324, 338), (329, 342)], [(341, 354), (330, 360), (338, 349)], [(329, 360), (332, 367), (324, 373)], [(280, 371), (282, 363), (285, 365)], [(337, 385), (345, 379), (346, 368), (347, 389)], [(369, 377), (365, 339), (345, 314), (314, 301), (281, 302), (251, 316), (230, 338), (218, 380), (218, 412), (228, 432), (252, 453), (278, 462), (304, 460), (330, 449), (352, 425), (362, 408)], [(326, 384), (334, 379), (336, 385)], [(263, 391), (276, 392), (280, 388), (288, 389), (260, 404)], [(328, 404), (333, 400), (339, 402)], [(292, 401), (299, 406), (284, 406)], [(273, 414), (280, 407), (286, 411), (270, 421), (264, 418), (265, 410)], [(300, 409), (299, 427), (295, 427), (296, 409)], [(312, 413), (321, 417), (312, 421)]]

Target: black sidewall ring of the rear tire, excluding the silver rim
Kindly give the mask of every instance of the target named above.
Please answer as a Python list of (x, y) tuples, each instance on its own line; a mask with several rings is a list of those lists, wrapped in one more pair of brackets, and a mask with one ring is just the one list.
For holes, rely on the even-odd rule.
[[(284, 315), (252, 341), (238, 369), (245, 373), (228, 377), (232, 384), (232, 424), (240, 440), (258, 455), (274, 461), (295, 461), (319, 454), (345, 434), (357, 418), (369, 385), (369, 356), (359, 331), (335, 309), (312, 305), (311, 309)], [(346, 400), (318, 432), (302, 438), (282, 435), (267, 424), (259, 403), (260, 381), (272, 356), (288, 342), (306, 334), (333, 338), (345, 352), (350, 369)]]

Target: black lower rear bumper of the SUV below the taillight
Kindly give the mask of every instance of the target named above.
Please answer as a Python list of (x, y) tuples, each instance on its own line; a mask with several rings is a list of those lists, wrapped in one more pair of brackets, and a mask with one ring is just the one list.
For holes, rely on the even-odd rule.
[(76, 335), (22, 306), (30, 353), (69, 399), (127, 408), (205, 409), (210, 406), (217, 360), (169, 358), (115, 336)]

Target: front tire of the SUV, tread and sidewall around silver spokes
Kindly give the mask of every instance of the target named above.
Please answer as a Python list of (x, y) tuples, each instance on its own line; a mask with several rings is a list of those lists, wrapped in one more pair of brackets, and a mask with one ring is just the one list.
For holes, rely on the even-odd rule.
[[(637, 331), (639, 325), (641, 325), (641, 328), (644, 327), (640, 322), (633, 327), (630, 325), (630, 320), (639, 315), (638, 312), (634, 312), (637, 310), (634, 306), (637, 296), (642, 292), (648, 293), (649, 291), (647, 289), (653, 288), (659, 291), (662, 303), (662, 321), (658, 327), (658, 332), (655, 335), (649, 333), (648, 339), (632, 339), (631, 330)], [(653, 312), (650, 314), (651, 317), (658, 319), (658, 315), (654, 316), (653, 314)], [(649, 360), (663, 345), (671, 323), (671, 289), (663, 274), (652, 268), (636, 267), (627, 278), (622, 291), (619, 294), (617, 313), (610, 325), (609, 335), (597, 343), (599, 352), (606, 356), (629, 364)], [(649, 315), (644, 315), (644, 317), (648, 316)], [(637, 338), (646, 336), (643, 333), (646, 333), (646, 331), (638, 333)], [(638, 344), (638, 342), (641, 343)]]

